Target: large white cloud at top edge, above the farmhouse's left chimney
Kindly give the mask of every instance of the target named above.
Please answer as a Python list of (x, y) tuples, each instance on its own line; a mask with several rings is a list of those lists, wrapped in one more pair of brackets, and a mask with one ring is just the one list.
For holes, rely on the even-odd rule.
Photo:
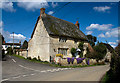
[(22, 2), (18, 2), (17, 5), (21, 8), (24, 8), (28, 11), (35, 11), (37, 9), (40, 9), (42, 7), (48, 7), (48, 3), (46, 0), (42, 0), (39, 2), (24, 2), (24, 0)]

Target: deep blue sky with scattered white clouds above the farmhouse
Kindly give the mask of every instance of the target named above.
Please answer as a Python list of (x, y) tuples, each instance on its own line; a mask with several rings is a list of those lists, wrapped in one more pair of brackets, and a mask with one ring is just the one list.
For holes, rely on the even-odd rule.
[(0, 3), (0, 32), (6, 42), (29, 41), (40, 8), (54, 17), (80, 23), (85, 35), (97, 37), (115, 47), (118, 44), (118, 3), (117, 2), (2, 2)]

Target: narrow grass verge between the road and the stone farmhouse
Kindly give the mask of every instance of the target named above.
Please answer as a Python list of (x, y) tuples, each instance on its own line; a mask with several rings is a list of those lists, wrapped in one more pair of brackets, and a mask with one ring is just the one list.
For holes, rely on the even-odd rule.
[(37, 59), (27, 59), (27, 58), (24, 58), (23, 56), (19, 56), (19, 55), (15, 55), (13, 54), (12, 56), (15, 56), (15, 57), (18, 57), (20, 59), (24, 59), (24, 60), (28, 60), (28, 61), (31, 61), (31, 62), (36, 62), (36, 63), (42, 63), (42, 64), (49, 64), (50, 66), (53, 66), (53, 67), (60, 67), (60, 68), (77, 68), (77, 67), (91, 67), (91, 66), (100, 66), (100, 65), (104, 65), (104, 64), (95, 64), (95, 65), (73, 65), (73, 66), (61, 66), (59, 64), (51, 64), (47, 61), (40, 61), (40, 60), (37, 60)]

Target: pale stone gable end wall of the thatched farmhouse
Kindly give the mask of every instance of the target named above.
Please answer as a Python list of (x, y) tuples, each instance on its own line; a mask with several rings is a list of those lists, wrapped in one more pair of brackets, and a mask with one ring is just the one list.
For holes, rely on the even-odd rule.
[(42, 61), (49, 61), (49, 35), (41, 19), (38, 21), (33, 38), (28, 42), (28, 57), (39, 57)]

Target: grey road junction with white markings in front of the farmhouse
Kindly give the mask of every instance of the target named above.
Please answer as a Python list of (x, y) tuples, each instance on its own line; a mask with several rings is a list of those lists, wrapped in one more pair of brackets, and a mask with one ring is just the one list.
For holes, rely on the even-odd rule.
[(57, 68), (7, 56), (2, 62), (2, 81), (99, 81), (109, 65)]

